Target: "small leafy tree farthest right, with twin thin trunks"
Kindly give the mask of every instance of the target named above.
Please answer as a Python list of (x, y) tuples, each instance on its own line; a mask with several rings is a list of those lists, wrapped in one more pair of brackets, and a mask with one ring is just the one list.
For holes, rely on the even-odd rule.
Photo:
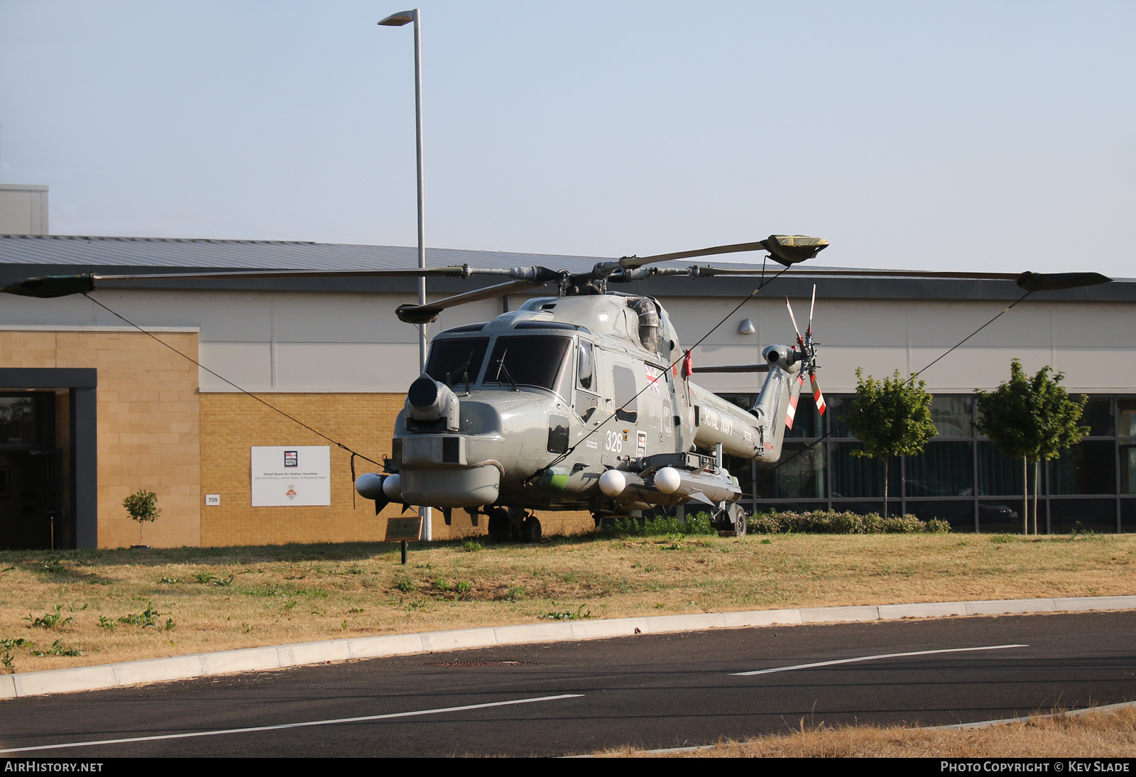
[[(1051, 375), (1052, 374), (1052, 375)], [(1077, 421), (1088, 396), (1070, 399), (1061, 387), (1064, 373), (1042, 367), (1028, 377), (1017, 359), (1010, 381), (978, 398), (978, 431), (1008, 459), (1021, 459), (1021, 533), (1029, 534), (1029, 462), (1034, 463), (1034, 534), (1037, 534), (1037, 482), (1042, 459), (1055, 459), (1088, 434)]]

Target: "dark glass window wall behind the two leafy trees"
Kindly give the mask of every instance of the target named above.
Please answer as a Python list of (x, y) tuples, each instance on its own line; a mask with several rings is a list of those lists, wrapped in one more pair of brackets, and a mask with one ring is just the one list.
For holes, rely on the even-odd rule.
[[(752, 407), (754, 394), (724, 394)], [(793, 429), (785, 433), (780, 463), (752, 473), (743, 504), (768, 510), (883, 509), (884, 463), (852, 456), (860, 443), (841, 423), (851, 395), (826, 398), (829, 411), (817, 413), (802, 394)], [(953, 530), (1020, 532), (1022, 462), (1002, 456), (978, 434), (974, 394), (939, 394), (932, 401), (938, 435), (924, 452), (888, 462), (888, 512), (939, 518)], [(1083, 416), (1091, 435), (1039, 468), (1038, 525), (1042, 532), (1136, 530), (1136, 396), (1091, 395)], [(824, 431), (828, 436), (822, 436)], [(746, 484), (745, 465), (730, 471)], [(1027, 490), (1035, 490), (1034, 467)], [(1078, 517), (1079, 516), (1079, 517)]]

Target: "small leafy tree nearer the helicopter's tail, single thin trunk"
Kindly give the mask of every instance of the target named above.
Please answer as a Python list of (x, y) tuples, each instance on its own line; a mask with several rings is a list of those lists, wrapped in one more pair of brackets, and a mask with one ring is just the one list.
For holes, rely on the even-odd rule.
[(884, 517), (887, 517), (887, 465), (893, 456), (917, 456), (927, 441), (937, 434), (930, 420), (932, 395), (924, 391), (925, 382), (904, 381), (900, 370), (883, 381), (863, 368), (855, 370), (855, 396), (844, 417), (844, 424), (855, 435), (863, 449), (852, 456), (884, 460)]

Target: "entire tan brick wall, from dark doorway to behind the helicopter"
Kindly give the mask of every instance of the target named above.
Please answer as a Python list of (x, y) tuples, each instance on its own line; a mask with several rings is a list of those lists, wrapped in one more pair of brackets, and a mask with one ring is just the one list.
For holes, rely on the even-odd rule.
[[(156, 336), (198, 358), (198, 335)], [(352, 495), (350, 454), (293, 420), (239, 393), (198, 392), (198, 368), (140, 332), (0, 331), (0, 366), (94, 367), (99, 370), (98, 477), (99, 545), (137, 542), (139, 526), (123, 499), (145, 488), (158, 494), (161, 516), (145, 526), (154, 546), (249, 545), (286, 542), (382, 540), (386, 518), (375, 503)], [(382, 461), (391, 452), (394, 417), (403, 394), (259, 394), (329, 437)], [(328, 445), (332, 453), (329, 507), (251, 507), (250, 449), (253, 445)], [(356, 473), (376, 471), (356, 460)], [(204, 494), (219, 494), (204, 507)], [(576, 532), (592, 525), (586, 512), (538, 513), (545, 533)], [(445, 526), (434, 511), (434, 537), (485, 533), (454, 510)]]

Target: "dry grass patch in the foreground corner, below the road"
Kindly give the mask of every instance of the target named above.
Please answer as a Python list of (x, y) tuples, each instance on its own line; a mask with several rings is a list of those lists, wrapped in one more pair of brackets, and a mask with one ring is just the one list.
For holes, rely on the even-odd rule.
[(987, 728), (820, 724), (791, 734), (722, 742), (685, 752), (629, 747), (604, 758), (1126, 758), (1136, 753), (1136, 708), (1031, 718)]

